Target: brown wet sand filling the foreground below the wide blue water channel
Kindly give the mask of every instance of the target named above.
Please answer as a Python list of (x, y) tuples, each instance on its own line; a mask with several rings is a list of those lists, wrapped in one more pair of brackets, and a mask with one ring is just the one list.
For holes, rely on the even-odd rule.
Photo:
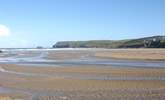
[[(7, 95), (11, 98), (23, 98), (23, 100), (25, 100), (24, 98), (32, 98), (33, 100), (49, 100), (50, 98), (52, 100), (79, 100), (80, 98), (82, 100), (102, 100), (103, 98), (104, 100), (151, 100), (155, 98), (163, 100), (165, 97), (165, 81), (162, 80), (106, 79), (108, 75), (118, 77), (164, 77), (165, 69), (100, 68), (98, 66), (38, 67), (12, 64), (1, 64), (1, 68), (9, 71), (0, 72), (1, 87), (14, 91), (3, 93), (2, 97)], [(35, 73), (36, 75), (27, 73)], [(105, 78), (103, 80), (82, 79), (83, 75), (85, 77), (103, 75)]]

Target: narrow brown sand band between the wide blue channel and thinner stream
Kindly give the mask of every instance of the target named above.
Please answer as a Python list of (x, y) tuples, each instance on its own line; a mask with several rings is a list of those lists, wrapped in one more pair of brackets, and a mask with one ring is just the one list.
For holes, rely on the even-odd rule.
[[(20, 64), (1, 64), (0, 68), (8, 73), (29, 73), (39, 75), (61, 75), (62, 74), (81, 74), (81, 75), (109, 75), (109, 76), (135, 76), (135, 77), (165, 77), (165, 68), (130, 68), (130, 67), (113, 67), (97, 65), (20, 65)], [(26, 74), (25, 74), (26, 75)]]

